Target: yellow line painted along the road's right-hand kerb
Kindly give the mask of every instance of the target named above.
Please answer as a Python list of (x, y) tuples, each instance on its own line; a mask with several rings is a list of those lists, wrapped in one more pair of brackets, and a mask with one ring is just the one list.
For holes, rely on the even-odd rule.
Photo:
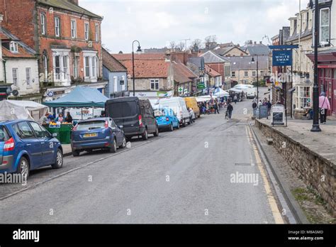
[(260, 171), (260, 175), (262, 175), (262, 180), (264, 181), (264, 189), (267, 193), (267, 200), (269, 202), (269, 207), (271, 207), (271, 212), (273, 214), (273, 218), (276, 224), (284, 224), (284, 219), (282, 219), (281, 212), (279, 211), (278, 205), (276, 204), (276, 199), (274, 198), (273, 193), (271, 192), (271, 186), (269, 185), (269, 180), (267, 179), (267, 172), (262, 165), (262, 159), (259, 156), (257, 146), (252, 141), (252, 133), (249, 127), (247, 127), (247, 133), (249, 136), (249, 142), (253, 148), (255, 160), (257, 162), (258, 169)]

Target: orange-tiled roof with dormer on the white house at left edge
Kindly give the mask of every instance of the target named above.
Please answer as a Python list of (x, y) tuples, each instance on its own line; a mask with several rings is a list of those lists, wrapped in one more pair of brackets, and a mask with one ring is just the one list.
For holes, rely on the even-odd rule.
[[(36, 58), (35, 57), (35, 50), (30, 48), (28, 45), (23, 43), (16, 35), (13, 35), (9, 32), (6, 28), (0, 29), (1, 35), (1, 48), (2, 48), (2, 56), (3, 57), (13, 57), (13, 58)], [(16, 41), (18, 43), (18, 53), (12, 53), (10, 50), (4, 47), (4, 41)]]

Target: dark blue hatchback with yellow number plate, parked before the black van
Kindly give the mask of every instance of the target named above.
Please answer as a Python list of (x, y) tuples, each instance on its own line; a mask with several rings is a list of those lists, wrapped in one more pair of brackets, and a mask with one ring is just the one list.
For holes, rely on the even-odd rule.
[(122, 127), (118, 127), (111, 118), (96, 118), (79, 121), (72, 129), (72, 155), (79, 156), (82, 151), (108, 149), (116, 153), (117, 147), (126, 147), (126, 138)]

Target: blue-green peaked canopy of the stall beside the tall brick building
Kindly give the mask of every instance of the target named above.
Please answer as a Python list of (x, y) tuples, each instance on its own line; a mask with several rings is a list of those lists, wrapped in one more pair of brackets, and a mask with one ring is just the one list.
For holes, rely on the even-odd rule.
[(108, 98), (98, 89), (91, 87), (75, 87), (72, 92), (60, 99), (43, 102), (50, 107), (104, 107)]

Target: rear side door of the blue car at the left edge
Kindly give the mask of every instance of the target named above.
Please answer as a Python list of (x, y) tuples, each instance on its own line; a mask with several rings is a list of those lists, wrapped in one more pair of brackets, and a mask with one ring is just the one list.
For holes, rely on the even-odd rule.
[(43, 165), (42, 147), (30, 124), (28, 124), (28, 121), (22, 121), (15, 124), (13, 128), (18, 137), (21, 138), (24, 149), (29, 153), (30, 169), (39, 168)]

